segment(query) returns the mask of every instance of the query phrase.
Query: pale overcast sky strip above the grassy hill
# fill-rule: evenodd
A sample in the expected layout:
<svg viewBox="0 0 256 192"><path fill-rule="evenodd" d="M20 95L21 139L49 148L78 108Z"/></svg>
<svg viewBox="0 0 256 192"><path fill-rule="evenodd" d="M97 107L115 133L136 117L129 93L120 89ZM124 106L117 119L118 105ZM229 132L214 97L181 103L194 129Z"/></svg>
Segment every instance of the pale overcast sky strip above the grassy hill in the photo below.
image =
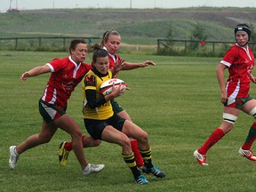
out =
<svg viewBox="0 0 256 192"><path fill-rule="evenodd" d="M0 9L256 7L255 0L0 0Z"/></svg>

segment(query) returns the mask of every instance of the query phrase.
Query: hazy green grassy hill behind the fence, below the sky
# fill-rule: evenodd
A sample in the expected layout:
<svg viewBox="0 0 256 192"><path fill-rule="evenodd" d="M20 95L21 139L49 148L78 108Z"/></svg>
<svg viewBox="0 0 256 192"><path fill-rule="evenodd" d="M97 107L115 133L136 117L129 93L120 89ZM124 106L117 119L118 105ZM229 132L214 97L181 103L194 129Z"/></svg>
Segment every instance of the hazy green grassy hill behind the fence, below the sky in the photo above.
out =
<svg viewBox="0 0 256 192"><path fill-rule="evenodd" d="M126 44L156 44L172 28L175 39L189 39L197 22L208 40L232 41L239 22L255 25L255 9L45 9L0 14L0 36L101 36L116 29Z"/></svg>

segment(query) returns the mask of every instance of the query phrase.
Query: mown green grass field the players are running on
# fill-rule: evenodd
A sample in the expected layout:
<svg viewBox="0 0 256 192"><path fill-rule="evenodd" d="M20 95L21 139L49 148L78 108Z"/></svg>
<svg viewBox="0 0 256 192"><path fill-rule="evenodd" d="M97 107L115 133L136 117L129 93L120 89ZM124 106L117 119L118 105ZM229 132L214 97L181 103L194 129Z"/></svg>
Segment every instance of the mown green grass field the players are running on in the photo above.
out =
<svg viewBox="0 0 256 192"><path fill-rule="evenodd" d="M188 58L154 55L121 55L126 61L154 60L156 67L120 73L131 88L116 99L134 123L149 134L154 164L166 178L147 176L150 184L135 185L124 164L121 148L103 142L85 148L92 163L106 164L99 174L84 177L73 152L68 166L58 161L59 143L70 140L59 130L48 144L20 156L14 171L9 169L9 147L40 131L37 101L49 74L20 84L20 74L30 68L62 58L63 52L0 52L0 184L1 191L253 191L255 163L238 155L252 117L241 114L232 132L208 153L210 164L196 163L193 152L218 127L222 116L215 68L220 58ZM91 62L89 55L86 61ZM252 95L256 95L252 85ZM85 134L81 108L82 92L76 88L68 103L68 114ZM255 146L252 149L256 148Z"/></svg>

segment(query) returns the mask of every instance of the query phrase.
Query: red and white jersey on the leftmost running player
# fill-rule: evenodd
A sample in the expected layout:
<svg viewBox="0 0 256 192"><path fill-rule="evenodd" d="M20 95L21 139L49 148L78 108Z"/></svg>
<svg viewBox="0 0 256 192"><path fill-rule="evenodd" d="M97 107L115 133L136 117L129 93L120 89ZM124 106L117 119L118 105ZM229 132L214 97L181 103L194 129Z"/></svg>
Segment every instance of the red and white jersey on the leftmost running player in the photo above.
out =
<svg viewBox="0 0 256 192"><path fill-rule="evenodd" d="M47 65L51 68L52 74L45 87L42 100L65 108L71 92L91 69L91 65L83 62L77 65L70 56L64 59L54 59Z"/></svg>

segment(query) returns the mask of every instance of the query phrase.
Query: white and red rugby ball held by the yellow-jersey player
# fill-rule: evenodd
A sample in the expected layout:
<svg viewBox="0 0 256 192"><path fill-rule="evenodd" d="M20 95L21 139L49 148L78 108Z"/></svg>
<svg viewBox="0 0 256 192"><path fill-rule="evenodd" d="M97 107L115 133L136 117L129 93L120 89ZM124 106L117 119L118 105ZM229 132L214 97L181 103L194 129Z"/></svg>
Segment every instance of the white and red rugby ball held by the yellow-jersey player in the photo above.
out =
<svg viewBox="0 0 256 192"><path fill-rule="evenodd" d="M127 85L124 83L123 80L117 79L117 78L112 78L112 79L109 79L108 81L103 82L103 84L100 85L100 93L102 95L110 94L112 92L113 84L115 84L116 87L118 87L119 84L121 84L121 89L127 87Z"/></svg>

